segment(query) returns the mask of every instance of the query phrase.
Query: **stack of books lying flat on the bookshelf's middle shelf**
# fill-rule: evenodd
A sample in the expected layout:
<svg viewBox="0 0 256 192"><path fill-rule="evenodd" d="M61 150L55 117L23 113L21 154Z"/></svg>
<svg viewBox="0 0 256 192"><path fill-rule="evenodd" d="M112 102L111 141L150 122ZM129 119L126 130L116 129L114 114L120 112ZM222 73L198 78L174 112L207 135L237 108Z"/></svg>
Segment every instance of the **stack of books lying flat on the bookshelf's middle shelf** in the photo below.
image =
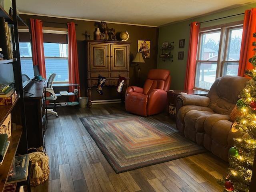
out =
<svg viewBox="0 0 256 192"><path fill-rule="evenodd" d="M14 87L0 84L0 105L12 105L17 98Z"/></svg>

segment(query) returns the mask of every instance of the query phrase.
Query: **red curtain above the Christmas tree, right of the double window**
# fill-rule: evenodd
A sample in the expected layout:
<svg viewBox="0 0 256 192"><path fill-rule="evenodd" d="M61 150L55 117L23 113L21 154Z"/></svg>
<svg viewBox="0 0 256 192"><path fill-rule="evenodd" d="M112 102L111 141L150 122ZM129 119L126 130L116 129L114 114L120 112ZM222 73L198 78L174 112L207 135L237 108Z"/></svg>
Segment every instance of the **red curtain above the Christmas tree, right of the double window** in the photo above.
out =
<svg viewBox="0 0 256 192"><path fill-rule="evenodd" d="M246 70L251 70L254 67L248 61L254 55L252 42L254 42L253 33L256 32L256 8L246 10L244 14L244 26L242 35L242 44L240 51L240 61L238 68L238 76L244 76Z"/></svg>

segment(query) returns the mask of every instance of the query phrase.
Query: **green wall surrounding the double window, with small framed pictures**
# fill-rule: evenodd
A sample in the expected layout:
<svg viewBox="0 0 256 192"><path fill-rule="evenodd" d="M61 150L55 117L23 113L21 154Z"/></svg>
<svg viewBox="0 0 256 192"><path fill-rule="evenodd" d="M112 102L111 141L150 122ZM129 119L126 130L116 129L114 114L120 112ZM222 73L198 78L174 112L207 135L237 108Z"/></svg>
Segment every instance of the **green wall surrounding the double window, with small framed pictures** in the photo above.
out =
<svg viewBox="0 0 256 192"><path fill-rule="evenodd" d="M243 13L247 9L251 9L256 7L256 3L248 4L246 6L240 6L238 8L233 8L230 10L225 10L222 12L209 14L207 16L201 16L198 18L193 18L190 20L186 20L183 22L176 22L174 24L169 24L166 26L162 26L159 28L159 38L158 38L158 46L162 45L164 41L173 42L174 41L174 50L172 50L173 54L173 62L166 60L166 62L162 61L161 58L158 57L157 68L160 69L168 69L171 72L172 83L171 89L183 89L184 88L184 80L186 74L186 64L188 57L188 46L189 46L189 36L190 36L190 24L191 22L203 22L207 20L212 20L216 18L221 18L225 16L230 16L234 14ZM201 24L201 28L215 26L235 21L240 21L244 19L244 15L234 16L230 18L220 19L212 22L206 22ZM179 40L185 39L185 48L178 48ZM162 50L158 48L158 56L162 53ZM178 60L178 52L184 51L184 60Z"/></svg>

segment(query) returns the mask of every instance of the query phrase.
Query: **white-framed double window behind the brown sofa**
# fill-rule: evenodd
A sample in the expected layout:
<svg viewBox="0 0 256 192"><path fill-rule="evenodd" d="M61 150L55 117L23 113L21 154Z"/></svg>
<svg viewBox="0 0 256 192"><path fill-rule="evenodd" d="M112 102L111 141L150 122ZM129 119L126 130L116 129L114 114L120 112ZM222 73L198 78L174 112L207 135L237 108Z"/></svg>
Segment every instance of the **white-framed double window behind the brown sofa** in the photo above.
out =
<svg viewBox="0 0 256 192"><path fill-rule="evenodd" d="M217 77L237 75L241 42L241 25L201 31L194 88L209 90Z"/></svg>

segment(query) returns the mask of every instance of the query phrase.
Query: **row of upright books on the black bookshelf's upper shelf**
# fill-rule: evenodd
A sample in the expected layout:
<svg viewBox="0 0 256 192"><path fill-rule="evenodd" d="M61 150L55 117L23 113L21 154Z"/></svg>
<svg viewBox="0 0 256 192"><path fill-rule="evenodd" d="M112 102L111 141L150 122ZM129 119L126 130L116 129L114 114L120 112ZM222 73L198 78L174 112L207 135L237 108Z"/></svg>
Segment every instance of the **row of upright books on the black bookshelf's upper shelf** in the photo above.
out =
<svg viewBox="0 0 256 192"><path fill-rule="evenodd" d="M4 59L14 58L14 25L5 22L3 17L0 18L0 47L2 48Z"/></svg>

